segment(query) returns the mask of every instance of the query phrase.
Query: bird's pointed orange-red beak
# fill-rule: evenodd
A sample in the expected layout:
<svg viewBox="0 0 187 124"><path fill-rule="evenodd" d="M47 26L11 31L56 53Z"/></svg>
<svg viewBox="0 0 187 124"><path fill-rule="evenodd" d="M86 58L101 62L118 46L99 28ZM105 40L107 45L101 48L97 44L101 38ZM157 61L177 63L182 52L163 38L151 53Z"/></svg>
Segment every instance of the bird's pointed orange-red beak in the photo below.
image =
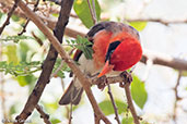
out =
<svg viewBox="0 0 187 124"><path fill-rule="evenodd" d="M110 65L109 60L107 60L104 67L103 67L103 70L102 70L102 72L98 74L97 77L101 77L101 76L109 73L113 69L114 69L114 65Z"/></svg>

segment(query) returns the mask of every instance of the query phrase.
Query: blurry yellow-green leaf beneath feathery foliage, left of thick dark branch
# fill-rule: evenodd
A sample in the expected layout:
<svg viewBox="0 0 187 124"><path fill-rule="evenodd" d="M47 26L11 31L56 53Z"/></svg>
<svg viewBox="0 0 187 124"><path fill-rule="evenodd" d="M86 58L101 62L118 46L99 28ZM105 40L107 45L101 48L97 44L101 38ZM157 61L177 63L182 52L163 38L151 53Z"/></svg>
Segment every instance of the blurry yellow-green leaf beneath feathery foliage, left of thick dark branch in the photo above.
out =
<svg viewBox="0 0 187 124"><path fill-rule="evenodd" d="M26 85L31 85L36 82L36 77L34 75L26 75L26 76L17 76L16 77L20 86L24 87Z"/></svg>

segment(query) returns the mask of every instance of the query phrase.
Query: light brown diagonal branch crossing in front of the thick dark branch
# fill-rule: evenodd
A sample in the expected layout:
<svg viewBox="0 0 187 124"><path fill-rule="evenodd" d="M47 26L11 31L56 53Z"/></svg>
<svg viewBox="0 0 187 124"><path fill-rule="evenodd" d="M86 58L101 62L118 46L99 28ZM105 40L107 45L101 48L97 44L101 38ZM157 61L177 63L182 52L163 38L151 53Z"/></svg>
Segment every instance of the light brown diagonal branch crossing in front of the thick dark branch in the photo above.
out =
<svg viewBox="0 0 187 124"><path fill-rule="evenodd" d="M44 35L49 39L49 41L52 44L52 46L56 48L56 50L60 53L61 58L65 60L65 62L71 67L72 72L77 75L78 79L82 84L89 100L93 107L95 115L103 120L106 124L110 124L109 120L103 114L101 111L93 94L91 90L91 83L85 77L85 75L80 71L80 69L77 66L74 61L66 53L61 45L58 42L58 39L54 37L54 35L50 33L50 30L47 28L47 26L39 20L39 17L33 13L24 2L20 1L19 7L24 11L25 15L30 17L36 26L44 33Z"/></svg>

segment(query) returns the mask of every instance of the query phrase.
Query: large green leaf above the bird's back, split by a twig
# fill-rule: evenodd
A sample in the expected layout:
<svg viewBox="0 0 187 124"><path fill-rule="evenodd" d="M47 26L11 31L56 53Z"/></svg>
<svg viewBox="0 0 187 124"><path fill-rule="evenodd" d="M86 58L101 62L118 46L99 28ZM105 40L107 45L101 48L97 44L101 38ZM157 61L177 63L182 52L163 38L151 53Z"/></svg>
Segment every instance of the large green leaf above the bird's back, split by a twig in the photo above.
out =
<svg viewBox="0 0 187 124"><path fill-rule="evenodd" d="M90 0L90 2L92 3L92 0ZM79 18L87 28L94 25L86 0L75 0L73 4L73 9L77 15L79 16ZM95 0L95 11L96 11L97 21L100 21L101 7L97 0Z"/></svg>

